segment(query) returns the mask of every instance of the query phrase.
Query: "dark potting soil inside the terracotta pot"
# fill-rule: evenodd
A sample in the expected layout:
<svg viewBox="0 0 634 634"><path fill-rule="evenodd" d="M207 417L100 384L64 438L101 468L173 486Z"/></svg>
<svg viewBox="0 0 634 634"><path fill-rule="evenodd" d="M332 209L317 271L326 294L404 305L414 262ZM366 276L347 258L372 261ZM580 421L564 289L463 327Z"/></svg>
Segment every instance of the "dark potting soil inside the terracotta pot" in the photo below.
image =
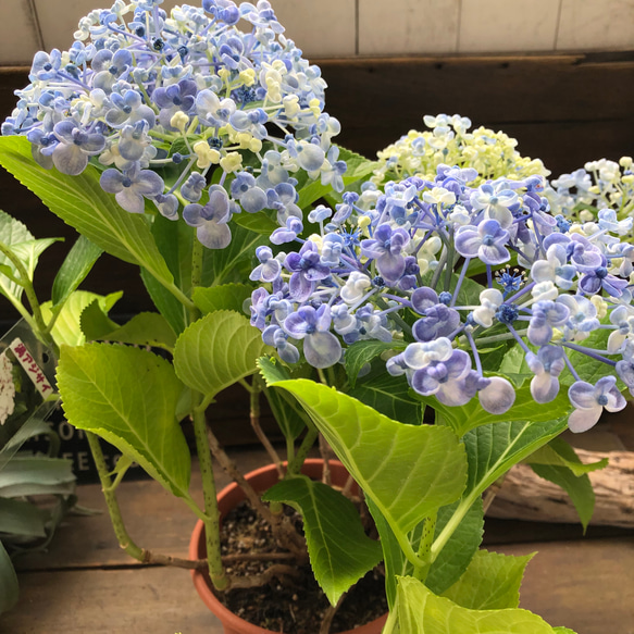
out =
<svg viewBox="0 0 634 634"><path fill-rule="evenodd" d="M301 518L286 508L294 521ZM241 502L224 519L221 531L223 555L279 552L271 529L251 509ZM229 575L262 574L271 564L291 561L239 561L227 567ZM273 579L263 586L236 588L219 593L220 600L232 612L254 625L284 634L319 634L328 599L314 580L310 564L299 567L298 576ZM353 630L387 612L385 577L377 570L369 572L345 597L331 624L331 634Z"/></svg>

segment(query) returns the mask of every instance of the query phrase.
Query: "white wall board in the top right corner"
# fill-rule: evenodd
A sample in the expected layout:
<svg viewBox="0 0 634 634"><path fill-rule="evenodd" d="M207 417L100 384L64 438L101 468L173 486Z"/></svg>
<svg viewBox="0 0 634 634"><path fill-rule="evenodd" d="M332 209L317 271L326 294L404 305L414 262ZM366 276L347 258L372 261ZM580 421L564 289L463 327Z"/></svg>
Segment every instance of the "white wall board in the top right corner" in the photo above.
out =
<svg viewBox="0 0 634 634"><path fill-rule="evenodd" d="M562 0L557 50L634 49L634 0Z"/></svg>

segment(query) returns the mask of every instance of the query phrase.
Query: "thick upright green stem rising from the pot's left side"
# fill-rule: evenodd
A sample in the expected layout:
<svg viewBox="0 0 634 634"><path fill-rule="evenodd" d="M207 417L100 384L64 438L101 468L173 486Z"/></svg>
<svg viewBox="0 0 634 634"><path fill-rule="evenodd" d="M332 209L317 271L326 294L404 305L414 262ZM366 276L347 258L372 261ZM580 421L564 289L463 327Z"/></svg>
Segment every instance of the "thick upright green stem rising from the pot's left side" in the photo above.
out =
<svg viewBox="0 0 634 634"><path fill-rule="evenodd" d="M202 495L204 499L204 538L207 544L207 562L209 565L209 576L214 587L219 591L228 586L222 558L220 552L220 511L217 509L217 499L215 490L215 481L213 477L213 467L211 463L211 451L207 439L207 420L204 418L204 408L199 406L201 396L198 393L191 393L191 402L194 408L194 433L196 436L196 450L198 451L198 461L200 464L200 474L202 477Z"/></svg>

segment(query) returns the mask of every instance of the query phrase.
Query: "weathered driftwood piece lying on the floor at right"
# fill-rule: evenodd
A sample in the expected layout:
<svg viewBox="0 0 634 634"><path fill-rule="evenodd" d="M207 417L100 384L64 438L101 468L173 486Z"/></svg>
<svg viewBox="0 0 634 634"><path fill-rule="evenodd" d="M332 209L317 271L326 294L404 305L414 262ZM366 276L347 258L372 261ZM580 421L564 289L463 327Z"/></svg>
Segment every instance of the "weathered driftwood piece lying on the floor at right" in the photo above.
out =
<svg viewBox="0 0 634 634"><path fill-rule="evenodd" d="M576 452L582 462L609 459L608 467L588 474L596 496L591 524L634 527L634 451ZM579 522L568 494L527 464L511 469L487 514L509 520Z"/></svg>

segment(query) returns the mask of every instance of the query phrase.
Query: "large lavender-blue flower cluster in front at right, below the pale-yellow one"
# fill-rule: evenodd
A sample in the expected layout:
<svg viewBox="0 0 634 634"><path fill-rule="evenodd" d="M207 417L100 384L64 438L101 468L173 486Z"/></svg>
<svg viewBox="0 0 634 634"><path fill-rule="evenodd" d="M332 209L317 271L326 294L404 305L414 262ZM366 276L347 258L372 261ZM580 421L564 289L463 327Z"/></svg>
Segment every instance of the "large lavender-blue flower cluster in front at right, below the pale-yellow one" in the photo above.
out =
<svg viewBox="0 0 634 634"><path fill-rule="evenodd" d="M258 249L251 323L283 360L302 352L319 369L356 341L393 343L390 374L447 406L477 395L494 414L512 406L515 389L483 370L483 351L517 341L536 402L554 400L569 373L569 425L585 431L604 408L625 407L625 386L634 395L634 246L608 222L571 232L549 213L542 176L470 187L475 177L440 165L433 181L390 182L384 192L366 184L335 210L315 209L309 220L321 231L308 239L290 219L271 241L301 247ZM464 303L461 290L477 274L486 285ZM595 383L580 360L601 369Z"/></svg>

